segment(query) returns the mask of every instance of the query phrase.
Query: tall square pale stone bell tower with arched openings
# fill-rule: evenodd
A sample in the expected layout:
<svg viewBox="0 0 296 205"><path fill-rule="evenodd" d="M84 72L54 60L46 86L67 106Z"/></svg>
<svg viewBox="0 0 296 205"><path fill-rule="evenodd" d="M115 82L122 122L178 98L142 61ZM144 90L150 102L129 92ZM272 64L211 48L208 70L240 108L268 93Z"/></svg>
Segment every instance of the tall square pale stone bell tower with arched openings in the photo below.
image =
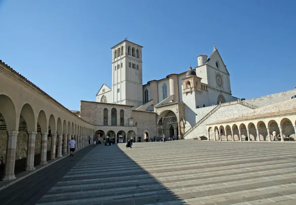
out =
<svg viewBox="0 0 296 205"><path fill-rule="evenodd" d="M112 101L116 104L143 104L142 48L131 41L121 41L112 49Z"/></svg>

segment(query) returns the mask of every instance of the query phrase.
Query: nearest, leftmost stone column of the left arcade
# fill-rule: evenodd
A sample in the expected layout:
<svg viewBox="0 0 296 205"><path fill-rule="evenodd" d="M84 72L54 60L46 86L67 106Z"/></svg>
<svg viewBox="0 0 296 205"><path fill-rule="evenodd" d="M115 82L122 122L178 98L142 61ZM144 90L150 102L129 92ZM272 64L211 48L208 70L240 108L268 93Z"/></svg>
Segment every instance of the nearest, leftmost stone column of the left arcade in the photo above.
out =
<svg viewBox="0 0 296 205"><path fill-rule="evenodd" d="M7 145L5 156L4 175L1 180L13 180L16 179L14 175L15 165L15 151L18 131L7 131Z"/></svg>

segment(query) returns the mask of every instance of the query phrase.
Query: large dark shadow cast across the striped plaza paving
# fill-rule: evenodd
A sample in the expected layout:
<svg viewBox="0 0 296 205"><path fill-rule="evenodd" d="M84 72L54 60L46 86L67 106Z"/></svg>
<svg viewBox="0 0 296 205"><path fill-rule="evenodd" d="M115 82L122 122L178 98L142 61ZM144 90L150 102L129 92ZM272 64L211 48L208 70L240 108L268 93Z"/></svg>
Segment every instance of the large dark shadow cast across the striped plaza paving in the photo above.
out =
<svg viewBox="0 0 296 205"><path fill-rule="evenodd" d="M125 153L130 150L122 151L118 145L97 145L37 204L185 205L185 201Z"/></svg>

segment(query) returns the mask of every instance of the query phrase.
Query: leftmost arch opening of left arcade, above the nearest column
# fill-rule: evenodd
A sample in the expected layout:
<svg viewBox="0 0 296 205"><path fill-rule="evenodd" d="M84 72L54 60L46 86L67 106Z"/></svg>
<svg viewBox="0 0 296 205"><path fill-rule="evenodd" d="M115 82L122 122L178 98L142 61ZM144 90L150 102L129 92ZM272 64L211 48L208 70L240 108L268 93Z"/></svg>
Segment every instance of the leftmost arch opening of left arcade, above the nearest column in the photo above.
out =
<svg viewBox="0 0 296 205"><path fill-rule="evenodd" d="M0 114L4 117L8 131L17 130L16 110L13 101L7 95L0 94Z"/></svg>

